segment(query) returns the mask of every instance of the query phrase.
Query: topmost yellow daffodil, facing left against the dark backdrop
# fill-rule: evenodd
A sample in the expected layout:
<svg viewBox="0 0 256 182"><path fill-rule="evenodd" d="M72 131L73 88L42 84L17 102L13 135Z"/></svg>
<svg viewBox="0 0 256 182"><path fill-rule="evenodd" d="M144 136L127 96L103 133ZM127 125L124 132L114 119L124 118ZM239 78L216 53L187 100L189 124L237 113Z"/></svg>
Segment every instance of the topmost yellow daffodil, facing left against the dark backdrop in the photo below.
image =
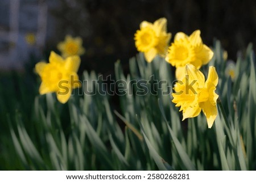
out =
<svg viewBox="0 0 256 182"><path fill-rule="evenodd" d="M135 46L143 52L147 62L151 62L156 55L166 56L171 33L167 33L167 20L160 18L154 22L143 21L135 33Z"/></svg>

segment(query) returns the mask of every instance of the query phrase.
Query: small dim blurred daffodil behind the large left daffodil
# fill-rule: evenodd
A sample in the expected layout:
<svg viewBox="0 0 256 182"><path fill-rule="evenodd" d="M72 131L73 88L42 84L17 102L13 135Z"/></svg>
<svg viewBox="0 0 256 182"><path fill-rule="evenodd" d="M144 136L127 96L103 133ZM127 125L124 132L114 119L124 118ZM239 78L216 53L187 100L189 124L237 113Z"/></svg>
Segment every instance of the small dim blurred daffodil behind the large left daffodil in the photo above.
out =
<svg viewBox="0 0 256 182"><path fill-rule="evenodd" d="M57 48L61 52L61 56L67 58L68 56L81 56L85 53L85 49L82 47L81 37L73 38L70 35L65 37L63 42L57 45Z"/></svg>

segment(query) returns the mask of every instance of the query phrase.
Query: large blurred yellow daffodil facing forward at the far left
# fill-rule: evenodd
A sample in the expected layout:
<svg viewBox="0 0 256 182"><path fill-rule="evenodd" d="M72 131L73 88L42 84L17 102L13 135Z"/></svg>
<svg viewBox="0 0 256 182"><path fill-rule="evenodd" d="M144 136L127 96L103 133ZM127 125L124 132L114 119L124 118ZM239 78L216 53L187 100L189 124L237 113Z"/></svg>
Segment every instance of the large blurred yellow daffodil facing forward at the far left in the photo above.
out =
<svg viewBox="0 0 256 182"><path fill-rule="evenodd" d="M49 63L39 62L35 65L36 73L42 79L39 93L43 95L55 92L60 103L66 103L71 96L72 89L81 86L77 75L79 66L79 56L71 56L64 60L52 51Z"/></svg>

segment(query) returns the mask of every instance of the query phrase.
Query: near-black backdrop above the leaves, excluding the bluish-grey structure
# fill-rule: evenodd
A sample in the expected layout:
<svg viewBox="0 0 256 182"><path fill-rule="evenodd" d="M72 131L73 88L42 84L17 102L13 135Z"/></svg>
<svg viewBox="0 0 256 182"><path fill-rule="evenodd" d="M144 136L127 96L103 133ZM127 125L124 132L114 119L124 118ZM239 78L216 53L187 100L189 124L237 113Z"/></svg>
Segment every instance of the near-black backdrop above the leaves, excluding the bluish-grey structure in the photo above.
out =
<svg viewBox="0 0 256 182"><path fill-rule="evenodd" d="M256 43L256 1L252 0L63 0L50 12L58 24L46 48L56 49L67 33L81 36L86 54L80 69L102 74L112 74L118 59L128 69L129 58L137 54L134 33L143 20L166 17L171 42L177 32L190 35L200 29L205 44L220 40L228 59L234 61L238 50Z"/></svg>

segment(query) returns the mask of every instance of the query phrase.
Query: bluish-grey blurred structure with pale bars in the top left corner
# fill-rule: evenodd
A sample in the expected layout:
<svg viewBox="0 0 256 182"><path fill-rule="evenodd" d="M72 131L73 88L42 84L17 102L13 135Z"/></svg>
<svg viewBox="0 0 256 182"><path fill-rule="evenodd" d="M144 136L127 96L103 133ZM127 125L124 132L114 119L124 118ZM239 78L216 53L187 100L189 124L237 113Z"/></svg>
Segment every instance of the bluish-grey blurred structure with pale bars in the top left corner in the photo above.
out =
<svg viewBox="0 0 256 182"><path fill-rule="evenodd" d="M46 41L48 3L45 0L0 1L0 70L22 69L31 51L40 53ZM26 35L36 41L30 45Z"/></svg>

